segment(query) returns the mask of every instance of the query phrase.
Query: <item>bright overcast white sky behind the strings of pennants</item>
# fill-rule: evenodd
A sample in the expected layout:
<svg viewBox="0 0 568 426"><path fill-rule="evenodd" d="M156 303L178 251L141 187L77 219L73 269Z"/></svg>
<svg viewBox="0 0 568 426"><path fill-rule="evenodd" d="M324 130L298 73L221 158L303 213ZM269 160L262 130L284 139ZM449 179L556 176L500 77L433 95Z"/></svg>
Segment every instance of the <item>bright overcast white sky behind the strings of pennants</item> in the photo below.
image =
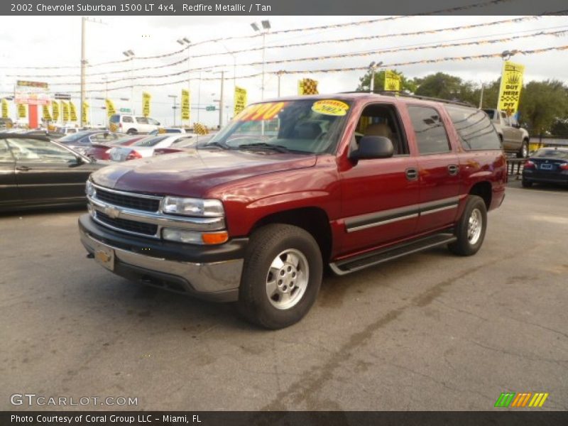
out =
<svg viewBox="0 0 568 426"><path fill-rule="evenodd" d="M142 59L141 57L173 53L182 48L176 43L179 38L187 38L192 44L189 51L189 68L210 68L209 72L190 72L190 92L192 117L190 121L200 121L208 126L219 124L218 111L205 111L207 106L218 106L221 93L221 70L224 70L224 117L223 124L233 115L234 84L244 87L248 100L261 100L261 75L251 78L243 76L261 74L263 66L263 37L255 35L252 22L260 23L266 16L105 16L92 17L86 26L87 102L91 106L92 124L105 123L105 111L101 108L106 94L114 100L116 108L133 107L136 114L141 113L142 92L152 95L151 116L166 126L173 125L173 97L187 88L187 50L166 58ZM501 53L503 50L532 50L568 45L568 32L557 35L539 35L516 38L503 43L482 43L479 45L455 46L449 48L427 48L422 50L402 50L391 53L380 50L407 48L409 46L432 46L440 43L469 43L519 35L532 35L545 31L568 31L568 16L542 16L518 23L501 23L493 26L442 31L422 35L395 35L415 31L453 28L479 23L490 23L515 18L515 16L404 16L391 21L379 21L356 26L290 33L272 33L292 28L325 26L334 23L366 21L373 16L268 16L271 30L265 38L265 93L264 99L278 94L278 70L305 70L305 73L282 75L280 94L297 94L297 80L312 78L317 80L320 93L337 93L356 89L359 77L364 70L334 73L312 73L310 70L329 68L366 67L369 62L382 61L384 65L430 60L436 58L461 57ZM334 40L357 38L370 35L381 37L371 40L337 42ZM235 38L236 39L231 39ZM240 37L240 38L239 38ZM243 38L245 37L245 38ZM224 38L222 42L200 43L214 38ZM309 43L326 40L330 43L293 46L295 43ZM285 47L275 47L285 46ZM258 50L249 51L257 48ZM98 65L101 62L123 61L125 50L132 50L133 60L112 65ZM234 55L213 55L233 50L245 50ZM271 64L273 60L321 57L325 55L366 53L350 58L321 59L302 62ZM200 55L207 55L201 56ZM80 16L0 16L0 96L13 94L16 80L33 80L50 84L50 92L71 93L79 106L81 58L81 18ZM515 55L513 62L525 65L525 82L532 80L560 80L568 84L568 50L550 51L535 55ZM172 62L178 65L159 67ZM258 62L259 65L246 65ZM236 66L235 66L236 65ZM482 82L496 80L501 74L503 60L489 58L482 60L454 60L429 64L400 65L395 68L407 77L422 77L435 72L457 75L464 80L481 85ZM68 67L60 70L26 69L23 67ZM132 72L131 69L141 69ZM236 72L235 72L236 71ZM180 73L173 77L149 77ZM233 78L236 74L236 82ZM55 75L64 75L55 77ZM105 83L104 78L107 78ZM133 80L131 78L133 77ZM200 78L201 77L201 78ZM119 82L112 82L119 80ZM206 80L207 79L207 80ZM147 84L155 82L176 82L159 87ZM133 97L129 86L134 82ZM126 89L113 90L114 87ZM120 100L120 98L129 100ZM133 102L132 102L133 100ZM217 102L216 102L217 101ZM11 116L15 118L16 109L11 103ZM180 110L175 110L176 124L180 124ZM199 116L199 117L198 117Z"/></svg>

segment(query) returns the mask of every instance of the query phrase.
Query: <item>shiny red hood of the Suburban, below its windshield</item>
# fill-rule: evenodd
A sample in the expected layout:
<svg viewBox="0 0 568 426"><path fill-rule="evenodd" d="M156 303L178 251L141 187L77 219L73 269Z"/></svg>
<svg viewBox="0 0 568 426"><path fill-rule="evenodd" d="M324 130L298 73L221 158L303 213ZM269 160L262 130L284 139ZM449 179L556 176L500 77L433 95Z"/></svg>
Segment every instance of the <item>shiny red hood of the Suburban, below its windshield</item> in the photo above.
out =
<svg viewBox="0 0 568 426"><path fill-rule="evenodd" d="M273 151L193 150L109 165L92 180L115 190L202 197L226 182L312 167L316 155Z"/></svg>

